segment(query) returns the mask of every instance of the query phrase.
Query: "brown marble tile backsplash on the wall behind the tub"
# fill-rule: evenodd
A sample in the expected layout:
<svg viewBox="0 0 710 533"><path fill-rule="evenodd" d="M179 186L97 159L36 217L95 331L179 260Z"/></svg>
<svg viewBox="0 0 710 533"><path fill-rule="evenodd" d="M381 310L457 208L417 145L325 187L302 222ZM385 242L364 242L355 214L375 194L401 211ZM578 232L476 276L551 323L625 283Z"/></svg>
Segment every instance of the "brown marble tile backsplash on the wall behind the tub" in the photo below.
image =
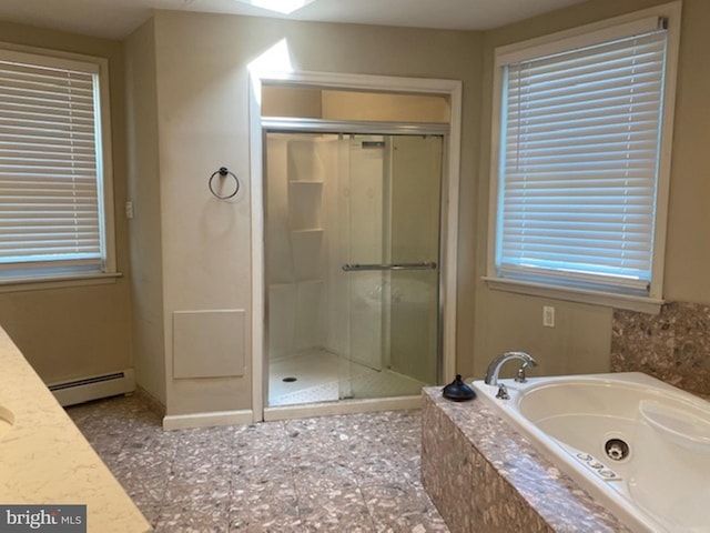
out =
<svg viewBox="0 0 710 533"><path fill-rule="evenodd" d="M710 305L669 302L657 315L615 310L611 371L640 371L710 396Z"/></svg>

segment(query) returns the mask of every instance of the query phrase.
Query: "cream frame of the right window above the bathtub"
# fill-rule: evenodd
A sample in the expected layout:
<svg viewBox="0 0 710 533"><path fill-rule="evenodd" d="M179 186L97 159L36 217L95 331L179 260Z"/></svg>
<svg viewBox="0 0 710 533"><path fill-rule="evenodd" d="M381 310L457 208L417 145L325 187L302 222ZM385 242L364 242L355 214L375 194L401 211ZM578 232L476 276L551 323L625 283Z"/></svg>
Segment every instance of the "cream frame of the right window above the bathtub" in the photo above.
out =
<svg viewBox="0 0 710 533"><path fill-rule="evenodd" d="M486 275L483 276L489 289L649 313L658 313L660 311L660 306L663 303L663 266L670 185L673 112L676 101L676 78L680 42L680 14L681 2L676 1L495 49L487 264ZM499 276L496 268L496 245L499 223L499 188L501 184L501 119L504 115L503 98L505 94L503 66L516 60L519 61L535 57L548 56L559 51L574 50L592 43L609 41L615 39L619 29L623 29L625 31L635 31L635 28L639 28L640 32L642 31L642 28L648 26L649 18L668 19L666 80L662 99L658 185L656 191L656 231L653 235L651 262L652 274L651 282L649 284L649 294L630 295L591 288L562 286L552 283L548 284L545 282Z"/></svg>

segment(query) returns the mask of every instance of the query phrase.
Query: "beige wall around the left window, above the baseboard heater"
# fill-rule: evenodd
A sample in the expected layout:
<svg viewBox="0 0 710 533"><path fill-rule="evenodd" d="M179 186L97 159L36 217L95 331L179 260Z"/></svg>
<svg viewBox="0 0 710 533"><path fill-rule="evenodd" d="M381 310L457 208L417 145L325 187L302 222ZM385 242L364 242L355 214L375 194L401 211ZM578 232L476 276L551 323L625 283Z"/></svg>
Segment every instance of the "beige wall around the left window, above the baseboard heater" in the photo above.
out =
<svg viewBox="0 0 710 533"><path fill-rule="evenodd" d="M0 22L0 40L108 58L116 258L128 275L123 53L120 42ZM128 278L105 285L1 292L0 324L45 382L132 366Z"/></svg>

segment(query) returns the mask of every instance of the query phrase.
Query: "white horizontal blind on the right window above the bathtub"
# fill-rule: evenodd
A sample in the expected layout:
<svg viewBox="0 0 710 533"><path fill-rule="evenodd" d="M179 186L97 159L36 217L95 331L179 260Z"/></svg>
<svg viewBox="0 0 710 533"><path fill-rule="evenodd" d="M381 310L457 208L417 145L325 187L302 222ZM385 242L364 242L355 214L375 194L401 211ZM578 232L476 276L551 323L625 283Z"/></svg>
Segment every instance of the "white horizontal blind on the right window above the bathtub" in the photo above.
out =
<svg viewBox="0 0 710 533"><path fill-rule="evenodd" d="M666 32L505 67L498 275L645 292Z"/></svg>

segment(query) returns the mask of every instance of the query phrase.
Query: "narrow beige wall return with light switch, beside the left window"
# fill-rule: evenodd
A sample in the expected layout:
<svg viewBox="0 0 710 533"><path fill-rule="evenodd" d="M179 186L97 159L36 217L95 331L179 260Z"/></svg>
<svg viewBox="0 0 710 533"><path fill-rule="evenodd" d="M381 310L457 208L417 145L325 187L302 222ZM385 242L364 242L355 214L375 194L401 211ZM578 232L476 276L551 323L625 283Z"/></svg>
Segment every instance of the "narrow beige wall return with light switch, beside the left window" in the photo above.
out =
<svg viewBox="0 0 710 533"><path fill-rule="evenodd" d="M163 271L155 34L151 19L125 41L131 324L138 383L165 404Z"/></svg>

